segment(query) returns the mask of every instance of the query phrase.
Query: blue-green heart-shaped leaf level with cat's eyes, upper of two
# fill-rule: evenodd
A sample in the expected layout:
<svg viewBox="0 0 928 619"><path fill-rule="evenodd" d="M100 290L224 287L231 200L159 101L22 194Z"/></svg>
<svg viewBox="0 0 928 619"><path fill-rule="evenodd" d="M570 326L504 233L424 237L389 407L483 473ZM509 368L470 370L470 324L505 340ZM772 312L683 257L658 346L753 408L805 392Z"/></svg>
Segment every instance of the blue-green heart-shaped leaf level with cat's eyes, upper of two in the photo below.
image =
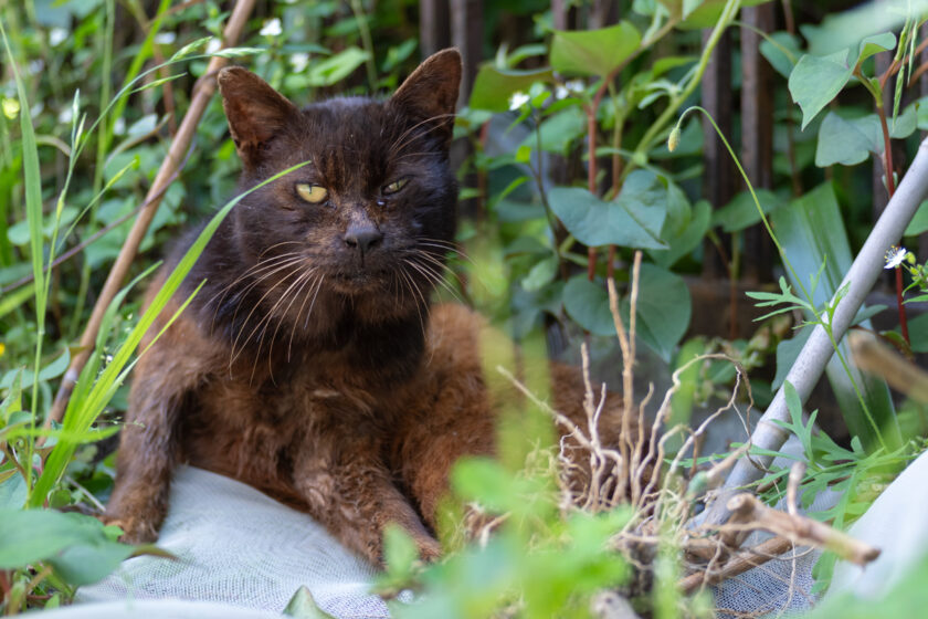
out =
<svg viewBox="0 0 928 619"><path fill-rule="evenodd" d="M651 171L629 175L622 192L611 202L577 187L557 187L548 200L567 230L587 245L667 246L660 238L667 214L667 188Z"/></svg>

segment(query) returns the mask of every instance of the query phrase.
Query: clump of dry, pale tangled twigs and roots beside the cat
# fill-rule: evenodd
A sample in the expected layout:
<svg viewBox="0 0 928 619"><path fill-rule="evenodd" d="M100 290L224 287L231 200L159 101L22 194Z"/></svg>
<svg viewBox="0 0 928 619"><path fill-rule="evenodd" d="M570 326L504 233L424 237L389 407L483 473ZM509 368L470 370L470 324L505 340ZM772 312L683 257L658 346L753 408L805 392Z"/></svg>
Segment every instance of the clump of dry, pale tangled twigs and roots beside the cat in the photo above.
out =
<svg viewBox="0 0 928 619"><path fill-rule="evenodd" d="M632 265L631 311L629 326L619 312L619 297L614 281L609 280L610 311L622 353L622 395L624 415L622 416L622 439L618 448L604 445L599 436L599 420L605 405L607 386L602 385L599 394L590 380L590 358L586 344L582 347L583 379L586 398L583 408L587 413L586 428L571 421L567 416L551 408L513 377L504 368L504 374L527 398L549 413L566 430L560 441L558 460L558 482L560 510L569 513L583 510L591 513L613 510L628 505L633 512L629 523L615 533L613 548L621 553L636 569L632 587L623 591L635 595L648 588L654 571L654 560L660 545L671 543L678 549L678 557L685 569L679 580L684 594L694 594L706 587L717 585L736 577L749 569L761 568L771 560L791 562L795 570L797 559L814 548L823 548L837 554L842 559L865 565L879 555L879 550L867 544L851 538L829 524L814 521L799 513L797 507L800 495L799 485L805 470L803 463L793 465L788 478L787 511L764 505L750 492L736 494L727 502L731 512L729 520L718 526L699 523L699 507L716 500L718 489L727 472L741 458L750 459L750 440L734 450L720 461L708 468L697 466L698 447L709 426L726 412L739 416L746 436L750 437L749 413L753 405L750 397L750 382L737 361L726 355L700 355L674 371L673 385L653 417L650 429L646 407L654 396L654 387L648 387L645 396L635 401L633 376L635 359L635 307L637 301L641 252L636 252ZM677 424L667 428L671 416L671 400L681 388L681 375L694 364L709 359L724 359L734 364L736 382L729 399L696 429ZM747 394L747 415L739 409L738 396L744 389ZM682 447L669 453L668 443L675 437L686 434ZM572 442L572 444L571 444ZM583 450L589 461L589 472L583 476L589 483L578 487L578 459L576 450ZM573 453L570 453L574 450ZM692 459L692 460L690 460ZM685 460L690 460L687 466ZM758 464L759 465L759 464ZM688 468L688 471L686 469ZM489 526L498 524L499 518ZM748 534L763 531L772 537L751 546L745 546ZM483 532L486 538L487 532ZM774 576L774 578L781 578ZM784 583L789 587L790 599L794 583ZM625 605L613 599L614 594L597 598L602 608L601 617L631 617ZM611 597L612 596L612 597ZM612 610L610 610L612 609ZM618 609L618 610L616 610ZM595 609L594 609L595 610ZM723 609L719 609L723 610ZM758 609L769 612L771 608Z"/></svg>

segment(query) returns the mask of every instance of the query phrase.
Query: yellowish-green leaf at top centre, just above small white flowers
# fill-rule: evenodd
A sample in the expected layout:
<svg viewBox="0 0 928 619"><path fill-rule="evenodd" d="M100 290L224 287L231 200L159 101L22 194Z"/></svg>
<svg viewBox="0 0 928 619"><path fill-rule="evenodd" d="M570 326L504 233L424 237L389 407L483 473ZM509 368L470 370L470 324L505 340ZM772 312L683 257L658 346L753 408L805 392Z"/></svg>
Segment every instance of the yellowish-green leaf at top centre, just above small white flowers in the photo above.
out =
<svg viewBox="0 0 928 619"><path fill-rule="evenodd" d="M626 21L599 30L556 31L551 66L563 74L605 77L640 44L641 34Z"/></svg>

